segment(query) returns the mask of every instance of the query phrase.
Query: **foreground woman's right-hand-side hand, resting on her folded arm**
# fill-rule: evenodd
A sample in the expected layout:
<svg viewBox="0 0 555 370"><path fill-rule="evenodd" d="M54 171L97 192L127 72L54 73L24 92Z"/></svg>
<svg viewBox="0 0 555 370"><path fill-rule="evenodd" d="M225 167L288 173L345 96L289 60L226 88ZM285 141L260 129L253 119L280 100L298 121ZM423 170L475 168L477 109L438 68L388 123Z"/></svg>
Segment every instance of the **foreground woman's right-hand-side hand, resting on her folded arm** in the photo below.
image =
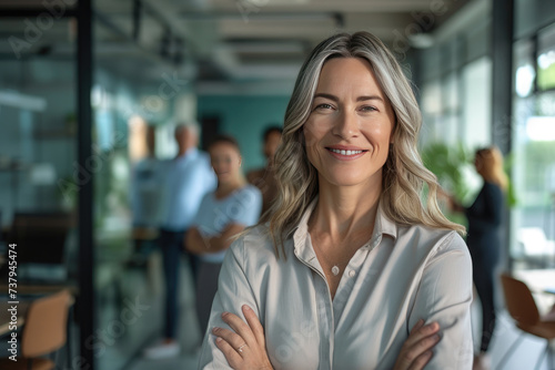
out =
<svg viewBox="0 0 555 370"><path fill-rule="evenodd" d="M394 370L421 370L433 356L432 348L440 341L437 331L440 325L431 322L424 326L424 320L418 322L411 330L411 335L401 348Z"/></svg>

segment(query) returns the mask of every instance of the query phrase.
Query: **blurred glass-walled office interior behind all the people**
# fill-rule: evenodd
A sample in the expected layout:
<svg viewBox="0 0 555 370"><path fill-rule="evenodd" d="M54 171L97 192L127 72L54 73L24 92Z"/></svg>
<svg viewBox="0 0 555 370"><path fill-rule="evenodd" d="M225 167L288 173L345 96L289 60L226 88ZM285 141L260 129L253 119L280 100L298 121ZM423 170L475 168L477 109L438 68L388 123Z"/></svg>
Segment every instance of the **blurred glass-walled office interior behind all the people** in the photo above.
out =
<svg viewBox="0 0 555 370"><path fill-rule="evenodd" d="M501 150L509 185L496 276L525 281L548 311L554 1L0 0L0 295L10 244L22 301L71 294L60 369L195 368L201 332L184 256L179 351L143 356L164 333L157 178L178 155L175 125L200 124L200 151L234 136L245 175L266 167L261 138L283 122L303 59L325 37L357 30L390 45L414 82L423 157L457 202L468 206L482 186L474 151ZM493 367L521 335L496 291ZM480 312L476 300L473 320ZM9 330L0 335L4 346ZM532 368L544 347L525 336L503 369Z"/></svg>

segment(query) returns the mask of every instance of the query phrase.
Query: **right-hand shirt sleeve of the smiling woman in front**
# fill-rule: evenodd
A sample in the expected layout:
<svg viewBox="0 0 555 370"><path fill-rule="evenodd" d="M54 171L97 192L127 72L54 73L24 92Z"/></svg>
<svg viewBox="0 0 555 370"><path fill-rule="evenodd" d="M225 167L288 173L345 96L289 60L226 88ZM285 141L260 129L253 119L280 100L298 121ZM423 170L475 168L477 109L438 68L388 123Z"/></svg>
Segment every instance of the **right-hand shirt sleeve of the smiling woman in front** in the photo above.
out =
<svg viewBox="0 0 555 370"><path fill-rule="evenodd" d="M426 369L472 369L472 260L463 239L452 232L424 268L408 319L440 323L440 342Z"/></svg>

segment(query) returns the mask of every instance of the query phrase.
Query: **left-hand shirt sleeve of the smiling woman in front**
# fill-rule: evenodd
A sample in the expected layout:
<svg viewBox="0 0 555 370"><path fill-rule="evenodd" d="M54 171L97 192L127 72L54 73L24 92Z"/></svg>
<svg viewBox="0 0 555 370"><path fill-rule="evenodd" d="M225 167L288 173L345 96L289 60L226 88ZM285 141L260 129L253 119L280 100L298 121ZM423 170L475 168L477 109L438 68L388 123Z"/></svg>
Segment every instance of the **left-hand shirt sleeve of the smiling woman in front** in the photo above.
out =
<svg viewBox="0 0 555 370"><path fill-rule="evenodd" d="M215 346L215 337L211 333L214 327L232 330L223 322L221 315L232 312L245 322L241 307L249 305L260 318L260 309L254 298L254 292L246 279L244 271L244 238L240 238L231 245L225 254L225 259L220 270L218 280L218 292L215 294L210 312L210 320L202 343L199 360L199 370L231 369L222 351Z"/></svg>

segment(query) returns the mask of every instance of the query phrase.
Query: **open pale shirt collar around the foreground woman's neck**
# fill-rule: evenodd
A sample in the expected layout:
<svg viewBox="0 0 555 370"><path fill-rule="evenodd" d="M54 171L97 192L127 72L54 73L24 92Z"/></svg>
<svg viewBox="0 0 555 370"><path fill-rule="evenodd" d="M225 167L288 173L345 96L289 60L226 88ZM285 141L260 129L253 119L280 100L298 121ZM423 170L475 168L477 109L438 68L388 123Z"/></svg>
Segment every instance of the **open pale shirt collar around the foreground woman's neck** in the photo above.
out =
<svg viewBox="0 0 555 370"><path fill-rule="evenodd" d="M317 196L306 207L306 210L304 212L303 216L301 217L301 220L296 226L295 232L293 233L295 254L301 253L305 255L305 257L309 257L309 259L313 257L312 253L306 255L305 250L306 239L309 236L309 218L314 208L316 207L316 204L317 204ZM381 239L384 234L391 236L393 239L396 239L397 225L385 215L383 210L382 199L380 199L380 203L377 204L376 219L374 222L374 232L369 243L364 244L362 248L369 248L371 245L375 246L375 243L372 241Z"/></svg>

